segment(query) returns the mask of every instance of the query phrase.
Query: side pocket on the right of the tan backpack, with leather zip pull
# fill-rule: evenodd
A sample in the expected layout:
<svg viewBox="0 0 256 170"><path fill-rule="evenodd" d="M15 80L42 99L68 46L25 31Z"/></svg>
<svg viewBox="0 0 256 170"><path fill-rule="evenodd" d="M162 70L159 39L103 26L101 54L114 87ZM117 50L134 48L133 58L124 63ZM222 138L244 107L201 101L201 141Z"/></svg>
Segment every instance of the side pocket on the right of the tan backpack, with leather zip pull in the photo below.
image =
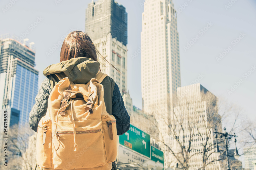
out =
<svg viewBox="0 0 256 170"><path fill-rule="evenodd" d="M104 145L107 162L114 162L117 156L116 120L102 122Z"/></svg>

